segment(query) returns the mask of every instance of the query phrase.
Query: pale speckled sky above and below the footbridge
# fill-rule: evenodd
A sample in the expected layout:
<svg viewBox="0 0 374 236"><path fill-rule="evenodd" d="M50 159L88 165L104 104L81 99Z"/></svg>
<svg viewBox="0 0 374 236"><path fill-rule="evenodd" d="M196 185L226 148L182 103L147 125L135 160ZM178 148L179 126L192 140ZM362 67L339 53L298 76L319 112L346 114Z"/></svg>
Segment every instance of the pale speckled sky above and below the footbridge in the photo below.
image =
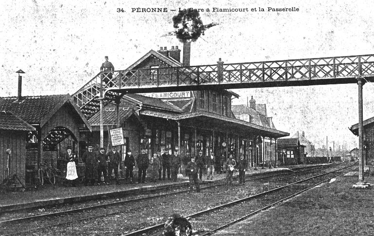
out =
<svg viewBox="0 0 374 236"><path fill-rule="evenodd" d="M167 12L131 12L132 8ZM126 69L150 49L182 43L173 31L179 8L204 9L205 24L219 25L191 44L191 65L307 59L374 54L374 2L348 0L7 0L0 3L0 96L73 94L98 72L104 56L115 70ZM212 12L248 8L249 12ZM264 8L264 12L258 9ZM268 12L296 7L298 12ZM117 8L125 12L117 12ZM250 9L257 9L251 12ZM210 12L206 12L209 9ZM177 10L177 11L171 11ZM348 127L358 122L357 85L323 85L234 90L245 104L253 96L266 103L277 129L305 132L316 144L358 145ZM374 84L363 88L364 119L374 116Z"/></svg>

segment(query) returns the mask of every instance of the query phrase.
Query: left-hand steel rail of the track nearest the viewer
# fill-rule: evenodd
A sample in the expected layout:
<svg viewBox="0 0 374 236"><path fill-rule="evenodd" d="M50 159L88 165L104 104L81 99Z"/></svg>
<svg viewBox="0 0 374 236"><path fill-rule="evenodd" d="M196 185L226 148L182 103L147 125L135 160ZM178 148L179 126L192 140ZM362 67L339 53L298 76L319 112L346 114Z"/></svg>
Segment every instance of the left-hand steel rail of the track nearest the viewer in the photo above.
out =
<svg viewBox="0 0 374 236"><path fill-rule="evenodd" d="M281 186L281 187L277 187L277 188L274 188L274 189L271 189L271 190L268 190L268 191L265 191L265 192L262 192L262 193L259 193L259 194L256 194L256 195L253 195L253 196L250 196L250 197L244 197L244 198L241 198L241 199L238 199L238 200L235 200L235 201L232 201L232 202L229 202L229 203L225 203L225 204L222 204L222 205L219 205L219 206L216 206L216 207L212 207L212 208L209 208L207 210L203 210L203 211L200 211L200 212L197 212L197 213L194 213L192 215L189 215L189 216L186 216L186 218L191 218L191 217L195 217L195 216L199 216L199 215L203 215L203 214L206 214L206 213L209 213L209 212L212 212L212 211L215 211L217 209L220 209L220 208L225 208L225 207L229 207L231 205L235 205L237 203L240 203L240 202L243 202L243 201L246 201L246 200L250 200L250 199L253 199L253 198L256 198L256 197L261 197L263 195L266 195L266 194L269 194L269 193L272 193L272 192L276 192L278 190L281 190L285 187L288 187L290 185L293 185L293 184L296 184L296 183L301 183L301 182L305 182L309 179L313 179L313 178L316 178L316 177L320 177L320 176L324 176L324 175L327 175L327 174L330 174L330 173L334 173L334 172L337 172L339 170L342 170L342 169L346 169L346 168L349 168L353 165L350 165L350 166L346 166L346 167L343 167L343 168L340 168L340 169L337 169L337 170L334 170L334 171L331 171L331 172L327 172L327 173L322 173L322 174L319 174L317 176L313 176L313 177L309 177L309 178L306 178L306 179L302 179L302 180L299 180L299 181L296 181L296 182L293 182L293 183L290 183L290 184L287 184L287 185L284 185L284 186ZM152 231L152 230L159 230L161 229L165 224L162 223L162 224L157 224L157 225L153 225L153 226L150 226L150 227L147 227L147 228L144 228L144 229L140 229L140 230L137 230L137 231L133 231L133 232L130 232L128 234L125 234L123 236L136 236L136 235L142 235L146 232L149 232L149 231Z"/></svg>

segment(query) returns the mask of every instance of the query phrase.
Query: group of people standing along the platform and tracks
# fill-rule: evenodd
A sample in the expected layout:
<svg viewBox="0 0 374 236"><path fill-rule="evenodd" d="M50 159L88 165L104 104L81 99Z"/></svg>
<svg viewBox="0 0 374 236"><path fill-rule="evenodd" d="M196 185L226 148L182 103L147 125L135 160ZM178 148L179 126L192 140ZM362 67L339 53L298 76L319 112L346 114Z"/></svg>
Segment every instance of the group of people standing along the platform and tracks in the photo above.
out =
<svg viewBox="0 0 374 236"><path fill-rule="evenodd" d="M77 157L72 153L71 147L67 148L67 155L65 157L67 161L67 175L66 179L72 182L75 186L76 174L76 163ZM86 151L82 156L82 161L85 163L85 185L94 185L97 181L98 184L109 184L109 177L112 176L114 171L115 183L119 184L118 169L121 166L121 157L117 152L116 147L113 146L112 150L105 153L104 148L100 148L100 152L93 152L93 146L88 146L88 151ZM135 162L136 161L136 162ZM182 160L178 154L178 149L165 150L161 154L160 150L157 150L150 158L146 154L146 149L142 148L141 153L136 157L136 159L131 155L131 150L128 150L124 161L122 170L125 174L125 181L133 183L133 170L135 166L138 167L138 178L137 183L147 183L146 177L148 177L151 182L156 182L158 180L168 180L177 181L177 176L179 168L181 168ZM193 185L195 185L196 191L199 192L199 180L203 179L203 171L207 171L207 180L212 180L214 177L215 166L217 164L216 157L212 153L208 157L204 157L203 151L200 150L199 154L194 157L190 157L190 161L186 166L186 176L190 182L191 191L193 190ZM218 163L219 164L219 163ZM229 155L224 163L225 171L227 174L226 183L232 183L232 177L235 168L239 169L239 183L244 184L245 169L247 167L247 161L241 155L238 163L236 162L233 155ZM123 168L122 168L123 169ZM101 176L104 177L104 181L101 180Z"/></svg>

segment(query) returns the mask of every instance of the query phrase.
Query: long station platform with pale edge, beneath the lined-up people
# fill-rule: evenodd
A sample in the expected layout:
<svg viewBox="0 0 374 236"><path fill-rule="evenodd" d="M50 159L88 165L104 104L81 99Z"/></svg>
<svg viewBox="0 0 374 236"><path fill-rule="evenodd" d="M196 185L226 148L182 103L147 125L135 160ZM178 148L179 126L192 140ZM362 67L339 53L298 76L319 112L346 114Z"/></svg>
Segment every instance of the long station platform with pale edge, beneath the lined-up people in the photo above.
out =
<svg viewBox="0 0 374 236"><path fill-rule="evenodd" d="M316 164L320 165L320 164ZM264 172L284 172L291 171L293 168L297 169L305 165L286 166L273 169L258 170L250 168L246 172L246 176L253 176L262 174ZM307 165L312 166L312 165ZM233 177L237 177L238 172L234 172ZM202 182L215 182L220 181L226 177L226 174L215 174L213 180L206 180L206 175L203 176ZM65 187L65 186L51 186L44 185L41 188L25 191L25 192L4 192L0 194L0 213L6 211L13 211L26 208L37 208L44 206L51 206L56 204L74 203L79 201L102 199L106 197L123 197L130 194L141 194L151 190L162 190L174 186L188 187L188 177L178 175L177 182L169 180L157 180L156 183L142 183L142 184L129 184L120 180L120 185L96 185L96 186L78 186L78 187Z"/></svg>

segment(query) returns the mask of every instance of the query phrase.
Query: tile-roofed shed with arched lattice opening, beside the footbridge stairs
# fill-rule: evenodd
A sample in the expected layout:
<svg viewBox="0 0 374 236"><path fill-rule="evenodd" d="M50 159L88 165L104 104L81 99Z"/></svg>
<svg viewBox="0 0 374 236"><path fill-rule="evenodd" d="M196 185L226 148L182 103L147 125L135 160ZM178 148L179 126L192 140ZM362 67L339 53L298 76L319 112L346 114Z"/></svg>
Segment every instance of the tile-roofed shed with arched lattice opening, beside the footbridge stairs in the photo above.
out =
<svg viewBox="0 0 374 236"><path fill-rule="evenodd" d="M79 131L91 131L69 94L0 98L0 110L12 112L35 128L26 140L26 168L30 171L37 170L39 162L57 167L66 146L78 152Z"/></svg>

